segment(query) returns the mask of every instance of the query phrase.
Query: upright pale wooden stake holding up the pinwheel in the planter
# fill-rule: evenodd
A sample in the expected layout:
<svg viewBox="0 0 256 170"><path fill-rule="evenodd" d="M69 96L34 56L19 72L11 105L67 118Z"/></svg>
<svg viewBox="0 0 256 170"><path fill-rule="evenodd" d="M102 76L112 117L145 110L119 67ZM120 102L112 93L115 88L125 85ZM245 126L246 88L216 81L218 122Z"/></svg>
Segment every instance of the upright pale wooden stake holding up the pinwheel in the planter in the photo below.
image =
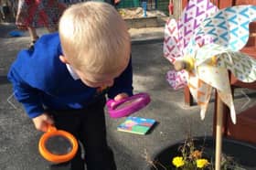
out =
<svg viewBox="0 0 256 170"><path fill-rule="evenodd" d="M219 94L217 94L215 170L220 170L221 165L223 106L223 102L220 100Z"/></svg>

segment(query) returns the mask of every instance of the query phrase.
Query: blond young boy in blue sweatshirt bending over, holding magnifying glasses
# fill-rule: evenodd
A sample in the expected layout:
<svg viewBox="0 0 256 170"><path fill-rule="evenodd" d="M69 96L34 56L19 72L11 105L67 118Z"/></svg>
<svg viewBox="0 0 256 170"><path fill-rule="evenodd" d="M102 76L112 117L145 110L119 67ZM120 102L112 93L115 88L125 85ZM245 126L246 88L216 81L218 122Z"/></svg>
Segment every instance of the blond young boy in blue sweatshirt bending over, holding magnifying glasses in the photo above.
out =
<svg viewBox="0 0 256 170"><path fill-rule="evenodd" d="M115 8L86 2L71 5L60 18L59 34L22 50L9 71L16 99L37 130L54 124L72 133L84 146L88 170L116 169L106 141L104 94L116 101L132 95L130 52L127 27ZM84 169L80 151L70 165Z"/></svg>

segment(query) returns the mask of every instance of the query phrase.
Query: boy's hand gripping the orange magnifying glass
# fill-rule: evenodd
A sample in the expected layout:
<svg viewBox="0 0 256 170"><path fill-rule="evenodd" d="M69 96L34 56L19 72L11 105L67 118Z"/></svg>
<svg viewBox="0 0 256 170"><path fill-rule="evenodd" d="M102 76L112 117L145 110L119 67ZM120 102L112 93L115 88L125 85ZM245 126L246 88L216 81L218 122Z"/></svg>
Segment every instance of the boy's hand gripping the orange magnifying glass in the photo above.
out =
<svg viewBox="0 0 256 170"><path fill-rule="evenodd" d="M42 132L47 132L48 125L51 125L54 123L53 119L46 112L33 118L32 121L34 122L36 129Z"/></svg>

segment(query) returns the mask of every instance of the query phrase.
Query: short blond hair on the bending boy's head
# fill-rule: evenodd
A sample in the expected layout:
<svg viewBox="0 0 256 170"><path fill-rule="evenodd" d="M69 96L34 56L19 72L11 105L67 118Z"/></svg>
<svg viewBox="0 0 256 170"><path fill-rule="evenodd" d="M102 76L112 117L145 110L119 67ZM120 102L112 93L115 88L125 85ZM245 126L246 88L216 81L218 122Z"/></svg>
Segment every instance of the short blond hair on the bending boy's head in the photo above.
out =
<svg viewBox="0 0 256 170"><path fill-rule="evenodd" d="M64 56L80 71L112 74L126 68L131 42L122 16L112 5L71 5L59 21Z"/></svg>

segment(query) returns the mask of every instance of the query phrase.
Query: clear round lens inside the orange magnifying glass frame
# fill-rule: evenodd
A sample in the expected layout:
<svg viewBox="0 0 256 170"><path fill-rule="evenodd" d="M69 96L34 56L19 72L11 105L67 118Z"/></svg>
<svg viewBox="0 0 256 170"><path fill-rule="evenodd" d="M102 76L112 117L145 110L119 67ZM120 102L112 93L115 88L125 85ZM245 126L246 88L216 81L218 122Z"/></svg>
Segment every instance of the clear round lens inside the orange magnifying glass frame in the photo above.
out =
<svg viewBox="0 0 256 170"><path fill-rule="evenodd" d="M69 154L73 149L72 143L64 136L50 136L45 143L45 147L51 154L63 155Z"/></svg>

